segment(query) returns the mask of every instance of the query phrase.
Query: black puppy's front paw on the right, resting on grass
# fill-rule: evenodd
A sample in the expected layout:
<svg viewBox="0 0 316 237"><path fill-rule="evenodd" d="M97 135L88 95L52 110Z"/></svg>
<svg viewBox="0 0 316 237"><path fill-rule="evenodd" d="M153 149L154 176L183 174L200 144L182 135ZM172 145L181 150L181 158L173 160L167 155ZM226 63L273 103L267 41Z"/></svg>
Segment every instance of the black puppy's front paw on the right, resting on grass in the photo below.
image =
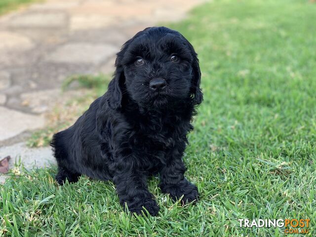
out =
<svg viewBox="0 0 316 237"><path fill-rule="evenodd" d="M182 196L182 203L197 201L198 192L197 186L184 179L176 185L160 185L163 193L169 194L173 200L180 199Z"/></svg>

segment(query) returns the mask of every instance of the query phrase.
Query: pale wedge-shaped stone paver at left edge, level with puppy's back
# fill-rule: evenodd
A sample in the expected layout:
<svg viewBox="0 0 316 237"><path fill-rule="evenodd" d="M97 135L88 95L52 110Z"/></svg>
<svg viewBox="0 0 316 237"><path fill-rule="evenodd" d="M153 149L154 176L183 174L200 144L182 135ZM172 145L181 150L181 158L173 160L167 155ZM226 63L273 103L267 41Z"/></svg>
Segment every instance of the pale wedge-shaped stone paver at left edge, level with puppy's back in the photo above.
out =
<svg viewBox="0 0 316 237"><path fill-rule="evenodd" d="M0 106L0 141L14 137L26 130L34 130L44 126L42 116L24 114Z"/></svg>

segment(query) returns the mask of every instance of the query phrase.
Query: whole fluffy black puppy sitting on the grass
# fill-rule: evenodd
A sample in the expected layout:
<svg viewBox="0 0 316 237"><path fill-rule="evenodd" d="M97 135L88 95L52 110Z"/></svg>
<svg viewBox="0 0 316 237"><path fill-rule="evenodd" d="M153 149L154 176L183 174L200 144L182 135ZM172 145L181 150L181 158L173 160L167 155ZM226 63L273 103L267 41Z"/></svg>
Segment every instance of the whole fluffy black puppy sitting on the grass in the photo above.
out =
<svg viewBox="0 0 316 237"><path fill-rule="evenodd" d="M157 215L147 177L160 174L160 188L173 199L197 199L182 161L187 133L202 101L193 46L180 33L152 27L137 33L117 54L108 91L70 128L54 135L56 180L81 174L112 180L122 205Z"/></svg>

